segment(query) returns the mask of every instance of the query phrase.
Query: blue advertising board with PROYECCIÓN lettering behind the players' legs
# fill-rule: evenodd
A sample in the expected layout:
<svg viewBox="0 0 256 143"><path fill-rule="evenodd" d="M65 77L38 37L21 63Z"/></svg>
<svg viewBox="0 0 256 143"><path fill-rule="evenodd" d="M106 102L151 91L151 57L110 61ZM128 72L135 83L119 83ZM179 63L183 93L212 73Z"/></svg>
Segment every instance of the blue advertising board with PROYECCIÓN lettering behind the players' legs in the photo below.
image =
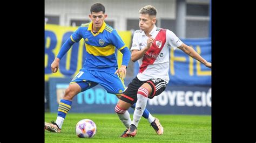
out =
<svg viewBox="0 0 256 143"><path fill-rule="evenodd" d="M126 79L125 85L132 79ZM60 99L71 78L49 78L50 112L57 112ZM70 112L115 113L116 95L108 94L100 85L78 94ZM149 99L147 109L151 113L211 115L211 87L167 86L166 90ZM133 112L129 109L130 113Z"/></svg>

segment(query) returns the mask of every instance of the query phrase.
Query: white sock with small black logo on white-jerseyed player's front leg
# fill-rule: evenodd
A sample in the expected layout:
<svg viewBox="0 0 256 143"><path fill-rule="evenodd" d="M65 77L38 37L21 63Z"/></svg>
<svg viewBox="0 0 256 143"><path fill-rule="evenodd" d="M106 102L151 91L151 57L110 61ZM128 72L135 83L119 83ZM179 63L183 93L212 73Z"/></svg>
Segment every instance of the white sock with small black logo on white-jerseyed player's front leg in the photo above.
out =
<svg viewBox="0 0 256 143"><path fill-rule="evenodd" d="M146 108L147 105L147 97L137 94L138 101L135 106L134 114L133 114L133 120L132 124L138 127L139 120L142 118L143 112Z"/></svg>

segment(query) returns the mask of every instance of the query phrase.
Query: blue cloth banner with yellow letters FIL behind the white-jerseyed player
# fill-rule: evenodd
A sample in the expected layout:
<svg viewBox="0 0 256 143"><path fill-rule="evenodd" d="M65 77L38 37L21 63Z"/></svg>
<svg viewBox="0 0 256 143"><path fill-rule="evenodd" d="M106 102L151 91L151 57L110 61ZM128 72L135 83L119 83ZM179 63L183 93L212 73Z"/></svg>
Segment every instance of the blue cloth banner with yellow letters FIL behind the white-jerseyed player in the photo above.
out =
<svg viewBox="0 0 256 143"><path fill-rule="evenodd" d="M194 48L208 62L212 61L211 38L181 39ZM138 74L138 62L134 63L134 76ZM169 85L211 85L211 69L194 60L180 49L170 49Z"/></svg>

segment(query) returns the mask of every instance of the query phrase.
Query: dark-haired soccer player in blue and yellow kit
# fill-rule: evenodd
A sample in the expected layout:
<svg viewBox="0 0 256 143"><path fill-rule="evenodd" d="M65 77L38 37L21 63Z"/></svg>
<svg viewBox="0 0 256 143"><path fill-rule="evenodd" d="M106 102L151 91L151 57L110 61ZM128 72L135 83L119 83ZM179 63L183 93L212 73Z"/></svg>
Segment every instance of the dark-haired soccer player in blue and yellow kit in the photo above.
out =
<svg viewBox="0 0 256 143"><path fill-rule="evenodd" d="M71 108L72 99L79 92L100 84L108 93L120 98L120 95L125 90L123 78L126 75L126 67L131 58L130 50L125 46L117 31L104 22L104 19L107 17L104 5L100 3L93 4L89 17L92 22L82 24L71 35L51 64L52 72L56 73L59 68L60 59L75 42L79 42L82 38L84 39L86 46L85 63L79 73L73 77L68 89L65 90L63 99L60 100L56 122L45 122L45 129L48 131L60 132L66 114ZM118 68L116 54L114 53L115 47L123 53L123 61L120 68ZM134 107L135 104L133 105ZM116 106L116 111L124 114L120 120L124 123L126 129L129 128L129 123L131 123L131 121L127 121L127 119L130 119L129 112L125 112L122 108L118 108L118 106ZM152 123L155 119L147 110L144 111L143 117L149 123Z"/></svg>

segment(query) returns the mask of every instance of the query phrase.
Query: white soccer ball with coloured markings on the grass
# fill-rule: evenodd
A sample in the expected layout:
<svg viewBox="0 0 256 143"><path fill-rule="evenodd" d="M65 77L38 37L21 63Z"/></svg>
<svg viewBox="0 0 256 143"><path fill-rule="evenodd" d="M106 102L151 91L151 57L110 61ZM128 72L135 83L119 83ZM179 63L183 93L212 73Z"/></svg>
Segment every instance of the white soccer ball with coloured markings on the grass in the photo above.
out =
<svg viewBox="0 0 256 143"><path fill-rule="evenodd" d="M96 131L96 124L90 119L80 120L76 125L76 134L79 138L92 138Z"/></svg>

